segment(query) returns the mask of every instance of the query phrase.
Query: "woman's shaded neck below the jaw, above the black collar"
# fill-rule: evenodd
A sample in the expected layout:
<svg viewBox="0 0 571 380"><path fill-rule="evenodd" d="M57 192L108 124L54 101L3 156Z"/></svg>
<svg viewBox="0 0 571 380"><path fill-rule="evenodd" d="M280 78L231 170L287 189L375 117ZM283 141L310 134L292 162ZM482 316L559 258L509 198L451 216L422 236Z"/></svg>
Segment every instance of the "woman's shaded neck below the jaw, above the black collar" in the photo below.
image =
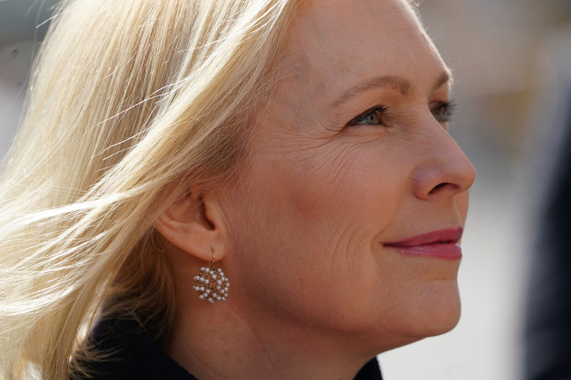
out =
<svg viewBox="0 0 571 380"><path fill-rule="evenodd" d="M245 312L230 297L189 301L178 303L166 350L198 379L353 379L374 356L355 354L352 339Z"/></svg>

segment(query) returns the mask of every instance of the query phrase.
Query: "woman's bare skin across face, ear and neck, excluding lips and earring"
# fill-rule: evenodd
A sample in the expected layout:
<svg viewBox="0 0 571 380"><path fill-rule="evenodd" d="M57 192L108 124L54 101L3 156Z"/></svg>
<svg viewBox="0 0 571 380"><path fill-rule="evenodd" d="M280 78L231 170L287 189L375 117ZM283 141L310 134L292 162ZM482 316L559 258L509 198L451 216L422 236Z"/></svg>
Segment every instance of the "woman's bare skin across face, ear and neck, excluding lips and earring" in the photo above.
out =
<svg viewBox="0 0 571 380"><path fill-rule="evenodd" d="M384 245L462 227L475 179L435 118L448 69L413 12L400 0L306 1L282 63L239 183L156 222L177 297L165 349L199 379L353 379L375 354L460 317L460 260ZM378 76L408 85L338 101ZM389 108L348 125L375 106ZM216 304L192 290L211 248L231 282Z"/></svg>

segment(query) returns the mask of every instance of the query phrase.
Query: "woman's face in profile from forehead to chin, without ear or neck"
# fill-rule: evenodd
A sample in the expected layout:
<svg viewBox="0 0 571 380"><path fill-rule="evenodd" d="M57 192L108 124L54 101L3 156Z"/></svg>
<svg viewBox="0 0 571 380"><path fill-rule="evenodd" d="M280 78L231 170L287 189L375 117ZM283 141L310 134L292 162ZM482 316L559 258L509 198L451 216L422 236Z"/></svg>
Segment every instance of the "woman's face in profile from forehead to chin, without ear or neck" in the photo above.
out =
<svg viewBox="0 0 571 380"><path fill-rule="evenodd" d="M385 349L448 331L453 244L389 246L466 217L475 170L448 133L438 51L403 1L314 0L282 58L251 161L222 192L228 302Z"/></svg>

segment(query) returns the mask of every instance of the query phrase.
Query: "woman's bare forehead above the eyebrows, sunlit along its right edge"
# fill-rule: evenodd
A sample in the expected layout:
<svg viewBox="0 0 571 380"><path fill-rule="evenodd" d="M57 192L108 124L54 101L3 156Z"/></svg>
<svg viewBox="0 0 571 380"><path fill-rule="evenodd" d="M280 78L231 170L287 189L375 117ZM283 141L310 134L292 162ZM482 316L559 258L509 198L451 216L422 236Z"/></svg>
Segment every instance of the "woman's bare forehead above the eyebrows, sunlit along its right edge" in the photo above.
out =
<svg viewBox="0 0 571 380"><path fill-rule="evenodd" d="M445 69L405 0L302 1L284 53L305 92L328 98L380 75L432 84Z"/></svg>

